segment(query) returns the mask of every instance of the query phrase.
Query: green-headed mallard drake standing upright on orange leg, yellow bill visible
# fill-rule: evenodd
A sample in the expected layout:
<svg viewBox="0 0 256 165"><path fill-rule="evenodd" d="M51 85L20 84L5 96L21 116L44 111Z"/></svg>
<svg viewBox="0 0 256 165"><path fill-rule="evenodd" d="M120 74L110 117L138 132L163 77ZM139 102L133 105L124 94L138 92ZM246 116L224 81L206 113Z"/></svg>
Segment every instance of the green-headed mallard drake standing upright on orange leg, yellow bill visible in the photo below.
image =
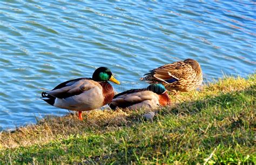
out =
<svg viewBox="0 0 256 165"><path fill-rule="evenodd" d="M78 111L79 120L82 111L90 111L109 104L113 97L113 87L107 82L120 84L107 67L99 67L92 78L78 78L57 85L53 90L42 92L42 98L48 104Z"/></svg>

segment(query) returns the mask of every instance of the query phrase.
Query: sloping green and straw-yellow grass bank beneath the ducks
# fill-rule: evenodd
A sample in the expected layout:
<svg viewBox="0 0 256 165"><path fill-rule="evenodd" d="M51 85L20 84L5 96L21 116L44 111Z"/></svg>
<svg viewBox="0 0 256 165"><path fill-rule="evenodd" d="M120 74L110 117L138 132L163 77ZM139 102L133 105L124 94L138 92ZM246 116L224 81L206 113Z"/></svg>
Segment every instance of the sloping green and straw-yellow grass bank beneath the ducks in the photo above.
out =
<svg viewBox="0 0 256 165"><path fill-rule="evenodd" d="M1 164L255 164L256 74L224 78L145 111L46 118L0 134Z"/></svg>

